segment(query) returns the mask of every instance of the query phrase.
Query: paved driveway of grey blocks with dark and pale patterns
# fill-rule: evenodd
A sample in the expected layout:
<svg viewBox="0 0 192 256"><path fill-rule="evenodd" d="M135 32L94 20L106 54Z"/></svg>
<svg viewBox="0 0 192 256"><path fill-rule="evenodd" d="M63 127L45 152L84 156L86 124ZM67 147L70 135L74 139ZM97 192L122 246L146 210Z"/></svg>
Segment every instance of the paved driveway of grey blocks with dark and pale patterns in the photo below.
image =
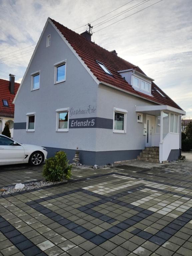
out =
<svg viewBox="0 0 192 256"><path fill-rule="evenodd" d="M74 168L71 182L0 197L2 255L191 256L192 161Z"/></svg>

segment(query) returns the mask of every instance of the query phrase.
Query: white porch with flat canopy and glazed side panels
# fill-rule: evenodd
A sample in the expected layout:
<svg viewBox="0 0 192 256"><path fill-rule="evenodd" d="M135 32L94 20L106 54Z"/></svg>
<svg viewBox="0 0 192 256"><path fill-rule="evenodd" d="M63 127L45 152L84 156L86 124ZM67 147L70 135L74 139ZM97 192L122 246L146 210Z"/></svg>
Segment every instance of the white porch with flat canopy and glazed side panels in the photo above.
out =
<svg viewBox="0 0 192 256"><path fill-rule="evenodd" d="M151 133L151 146L159 147L159 161L162 163L169 157L171 150L181 148L181 116L185 111L167 105L136 106L136 112L153 116L155 128ZM143 116L145 126L145 115Z"/></svg>

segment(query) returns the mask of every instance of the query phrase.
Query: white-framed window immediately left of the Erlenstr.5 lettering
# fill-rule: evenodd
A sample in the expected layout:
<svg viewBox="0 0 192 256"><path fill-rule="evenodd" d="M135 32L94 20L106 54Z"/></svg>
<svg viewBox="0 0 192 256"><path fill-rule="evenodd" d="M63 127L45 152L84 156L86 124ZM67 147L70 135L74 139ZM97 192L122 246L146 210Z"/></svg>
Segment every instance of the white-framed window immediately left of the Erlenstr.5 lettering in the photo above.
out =
<svg viewBox="0 0 192 256"><path fill-rule="evenodd" d="M56 132L69 131L69 108L60 108L57 112Z"/></svg>

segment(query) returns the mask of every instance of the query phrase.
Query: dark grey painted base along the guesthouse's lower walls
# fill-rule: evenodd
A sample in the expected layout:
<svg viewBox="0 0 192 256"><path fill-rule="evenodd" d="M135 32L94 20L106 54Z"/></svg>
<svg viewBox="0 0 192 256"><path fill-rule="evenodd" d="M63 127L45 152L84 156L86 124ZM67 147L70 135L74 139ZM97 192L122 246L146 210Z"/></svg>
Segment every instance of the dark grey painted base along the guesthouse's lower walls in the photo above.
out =
<svg viewBox="0 0 192 256"><path fill-rule="evenodd" d="M45 147L48 151L47 158L55 155L57 151L65 151L69 162L72 163L75 156L74 149ZM119 150L119 151L85 151L80 150L80 163L88 165L103 165L116 161L136 159L142 150Z"/></svg>

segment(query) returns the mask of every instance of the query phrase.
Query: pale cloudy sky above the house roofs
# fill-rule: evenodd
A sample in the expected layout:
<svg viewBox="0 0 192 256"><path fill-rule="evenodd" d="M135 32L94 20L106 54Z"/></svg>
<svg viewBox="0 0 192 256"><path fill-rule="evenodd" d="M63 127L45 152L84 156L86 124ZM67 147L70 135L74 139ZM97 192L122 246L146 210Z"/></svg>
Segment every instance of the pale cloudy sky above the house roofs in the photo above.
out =
<svg viewBox="0 0 192 256"><path fill-rule="evenodd" d="M21 82L48 17L80 33L91 23L95 43L139 66L192 119L192 1L158 1L0 0L0 78Z"/></svg>

